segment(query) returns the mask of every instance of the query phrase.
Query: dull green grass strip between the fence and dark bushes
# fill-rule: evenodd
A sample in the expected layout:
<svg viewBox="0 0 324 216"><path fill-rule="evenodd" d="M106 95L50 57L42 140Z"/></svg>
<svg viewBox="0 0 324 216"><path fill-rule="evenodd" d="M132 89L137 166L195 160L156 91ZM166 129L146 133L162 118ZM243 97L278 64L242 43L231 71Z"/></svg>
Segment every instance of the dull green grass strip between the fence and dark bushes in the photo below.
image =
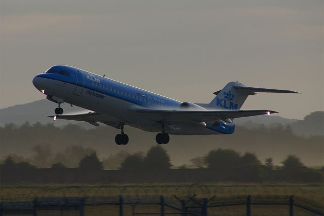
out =
<svg viewBox="0 0 324 216"><path fill-rule="evenodd" d="M197 197L237 195L296 195L323 203L324 184L288 183L143 183L143 184L12 184L1 185L1 200L31 200L34 197L84 197L116 195L177 195Z"/></svg>

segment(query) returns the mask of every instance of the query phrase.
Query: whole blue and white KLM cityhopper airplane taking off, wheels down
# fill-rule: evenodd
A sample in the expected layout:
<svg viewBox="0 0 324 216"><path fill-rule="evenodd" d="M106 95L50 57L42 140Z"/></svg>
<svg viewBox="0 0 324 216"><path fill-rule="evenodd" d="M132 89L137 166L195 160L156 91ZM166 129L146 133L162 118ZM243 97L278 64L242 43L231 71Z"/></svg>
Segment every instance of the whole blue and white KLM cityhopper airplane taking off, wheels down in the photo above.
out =
<svg viewBox="0 0 324 216"><path fill-rule="evenodd" d="M32 80L33 85L58 104L55 115L48 117L85 121L99 126L103 123L120 129L117 145L126 145L129 137L124 125L157 132L158 144L167 144L169 134L205 135L232 134L233 119L270 115L270 110L240 110L249 95L257 92L299 93L289 90L254 88L229 82L214 92L210 103L181 102L125 83L108 79L72 66L55 65ZM62 115L62 103L83 107L91 112Z"/></svg>

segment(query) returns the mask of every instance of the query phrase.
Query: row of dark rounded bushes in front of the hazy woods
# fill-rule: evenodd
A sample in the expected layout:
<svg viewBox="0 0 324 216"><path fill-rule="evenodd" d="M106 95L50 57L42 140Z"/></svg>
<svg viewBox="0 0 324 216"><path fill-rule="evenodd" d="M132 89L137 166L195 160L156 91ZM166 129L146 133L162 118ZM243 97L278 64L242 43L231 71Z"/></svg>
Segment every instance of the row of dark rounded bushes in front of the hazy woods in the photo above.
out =
<svg viewBox="0 0 324 216"><path fill-rule="evenodd" d="M120 170L167 170L171 168L187 169L187 165L173 166L170 156L167 151L161 146L153 146L146 153L138 152L129 154L127 152L119 152L110 158L100 160L97 153L91 149L83 149L81 147L68 147L66 154L73 153L73 150L80 150L84 154L79 157L77 168L102 170L104 163L111 162L111 160L119 159L117 166ZM42 155L42 152L51 152L48 147L36 146L33 151L35 155L33 159L41 162L45 160L50 154ZM39 154L41 153L41 154ZM56 156L56 158L59 158ZM1 169L35 169L37 166L32 162L19 161L15 155L8 155L0 164ZM63 159L63 158L61 158ZM70 158L72 159L72 158ZM74 160L74 158L73 158ZM66 169L66 164L54 162L51 164L52 169ZM232 177L233 181L304 181L304 182L321 182L323 181L324 168L315 170L307 168L295 155L288 155L287 158L281 162L281 166L275 166L272 158L267 158L262 163L258 157L253 153L240 154L232 149L216 149L210 151L207 155L196 157L190 160L195 168L208 168L215 174L234 173L236 177ZM116 165L115 165L116 166Z"/></svg>

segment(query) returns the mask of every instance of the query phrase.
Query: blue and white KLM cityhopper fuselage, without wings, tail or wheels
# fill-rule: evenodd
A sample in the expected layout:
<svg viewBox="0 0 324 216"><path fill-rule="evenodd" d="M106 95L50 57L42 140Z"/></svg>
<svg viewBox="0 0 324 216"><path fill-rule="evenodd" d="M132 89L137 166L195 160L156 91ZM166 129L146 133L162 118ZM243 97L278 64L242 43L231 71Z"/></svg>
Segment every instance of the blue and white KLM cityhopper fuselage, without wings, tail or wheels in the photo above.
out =
<svg viewBox="0 0 324 216"><path fill-rule="evenodd" d="M177 110L182 104L178 100L65 65L53 66L46 73L37 75L33 84L52 101L70 103L110 116L114 121L105 124L117 128L119 122L145 131L161 132L161 122L152 121L149 115L137 113L134 108ZM176 135L231 134L234 124L224 121L218 124L186 122L164 125L164 131Z"/></svg>

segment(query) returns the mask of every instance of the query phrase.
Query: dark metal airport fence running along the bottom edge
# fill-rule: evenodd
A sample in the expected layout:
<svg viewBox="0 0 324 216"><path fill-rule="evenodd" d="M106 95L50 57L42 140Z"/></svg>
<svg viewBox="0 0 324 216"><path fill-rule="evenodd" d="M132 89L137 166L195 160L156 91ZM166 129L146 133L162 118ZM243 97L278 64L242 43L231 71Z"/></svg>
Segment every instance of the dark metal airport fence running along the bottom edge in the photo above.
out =
<svg viewBox="0 0 324 216"><path fill-rule="evenodd" d="M32 201L2 201L1 216L299 216L324 215L322 204L298 196L248 195L197 198L164 196L105 196L34 198Z"/></svg>

